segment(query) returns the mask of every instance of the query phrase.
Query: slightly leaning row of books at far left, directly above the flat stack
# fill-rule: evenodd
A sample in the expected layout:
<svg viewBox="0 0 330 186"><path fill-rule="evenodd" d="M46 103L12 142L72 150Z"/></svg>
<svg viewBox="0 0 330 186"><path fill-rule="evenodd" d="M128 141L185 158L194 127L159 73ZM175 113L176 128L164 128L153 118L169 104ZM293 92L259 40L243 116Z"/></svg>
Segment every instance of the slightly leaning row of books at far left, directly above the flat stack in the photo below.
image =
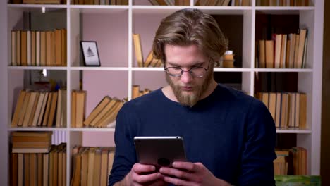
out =
<svg viewBox="0 0 330 186"><path fill-rule="evenodd" d="M66 90L21 90L11 127L65 127Z"/></svg>

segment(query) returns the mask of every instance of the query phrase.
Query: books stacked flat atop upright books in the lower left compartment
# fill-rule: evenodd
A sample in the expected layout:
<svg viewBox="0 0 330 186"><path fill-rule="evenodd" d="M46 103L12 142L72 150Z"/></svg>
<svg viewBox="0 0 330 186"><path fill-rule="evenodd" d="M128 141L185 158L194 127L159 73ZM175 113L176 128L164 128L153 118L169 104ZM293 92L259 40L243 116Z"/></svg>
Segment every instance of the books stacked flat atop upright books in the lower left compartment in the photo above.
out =
<svg viewBox="0 0 330 186"><path fill-rule="evenodd" d="M13 153L48 153L52 132L12 132Z"/></svg>

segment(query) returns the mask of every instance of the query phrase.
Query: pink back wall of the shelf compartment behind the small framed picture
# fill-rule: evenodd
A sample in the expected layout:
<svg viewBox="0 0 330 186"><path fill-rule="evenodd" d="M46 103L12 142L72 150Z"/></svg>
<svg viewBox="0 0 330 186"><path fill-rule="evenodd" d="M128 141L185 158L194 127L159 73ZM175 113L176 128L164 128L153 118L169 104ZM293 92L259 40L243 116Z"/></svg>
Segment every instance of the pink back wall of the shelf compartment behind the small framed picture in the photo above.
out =
<svg viewBox="0 0 330 186"><path fill-rule="evenodd" d="M82 40L96 41L102 66L128 67L128 11L83 13Z"/></svg>

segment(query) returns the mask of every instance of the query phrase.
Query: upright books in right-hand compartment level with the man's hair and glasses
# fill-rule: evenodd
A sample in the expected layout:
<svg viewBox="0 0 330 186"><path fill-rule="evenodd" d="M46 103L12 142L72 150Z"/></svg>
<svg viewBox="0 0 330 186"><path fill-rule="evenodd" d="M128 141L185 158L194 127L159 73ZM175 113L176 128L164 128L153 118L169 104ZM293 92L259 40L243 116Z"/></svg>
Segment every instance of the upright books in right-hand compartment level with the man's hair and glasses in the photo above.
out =
<svg viewBox="0 0 330 186"><path fill-rule="evenodd" d="M299 29L297 34L274 34L273 39L257 44L258 68L305 68L307 29Z"/></svg>

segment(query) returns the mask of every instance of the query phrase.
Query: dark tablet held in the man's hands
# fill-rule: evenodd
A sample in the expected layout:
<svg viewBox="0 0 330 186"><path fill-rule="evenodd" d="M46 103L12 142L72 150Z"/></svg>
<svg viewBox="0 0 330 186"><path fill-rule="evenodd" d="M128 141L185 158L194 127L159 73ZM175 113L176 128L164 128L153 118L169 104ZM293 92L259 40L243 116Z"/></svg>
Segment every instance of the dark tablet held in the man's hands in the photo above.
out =
<svg viewBox="0 0 330 186"><path fill-rule="evenodd" d="M169 137L134 137L138 161L142 164L171 166L173 161L187 161L183 138Z"/></svg>

